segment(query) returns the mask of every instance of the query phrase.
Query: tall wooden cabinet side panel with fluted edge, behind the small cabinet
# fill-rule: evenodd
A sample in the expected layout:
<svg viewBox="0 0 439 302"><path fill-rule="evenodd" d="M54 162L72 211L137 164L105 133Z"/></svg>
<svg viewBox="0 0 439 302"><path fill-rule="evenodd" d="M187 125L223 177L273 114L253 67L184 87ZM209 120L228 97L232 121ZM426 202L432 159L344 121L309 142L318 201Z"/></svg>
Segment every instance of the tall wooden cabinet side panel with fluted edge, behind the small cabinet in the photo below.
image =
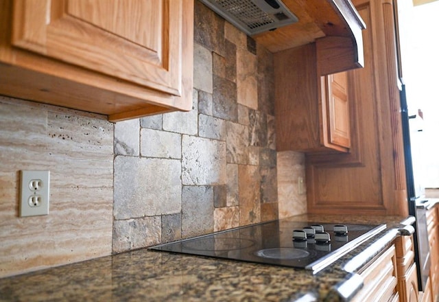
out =
<svg viewBox="0 0 439 302"><path fill-rule="evenodd" d="M365 66L347 72L351 148L307 154L307 209L407 216L394 1L353 3L366 30Z"/></svg>

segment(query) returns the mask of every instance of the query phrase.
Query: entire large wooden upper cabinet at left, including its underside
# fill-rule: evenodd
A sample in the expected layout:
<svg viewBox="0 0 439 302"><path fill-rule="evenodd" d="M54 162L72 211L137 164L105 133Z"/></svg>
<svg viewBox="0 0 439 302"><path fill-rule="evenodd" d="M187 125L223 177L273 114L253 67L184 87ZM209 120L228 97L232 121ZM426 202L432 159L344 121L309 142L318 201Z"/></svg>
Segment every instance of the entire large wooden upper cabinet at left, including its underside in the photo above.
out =
<svg viewBox="0 0 439 302"><path fill-rule="evenodd" d="M193 0L0 5L0 93L110 121L191 109Z"/></svg>

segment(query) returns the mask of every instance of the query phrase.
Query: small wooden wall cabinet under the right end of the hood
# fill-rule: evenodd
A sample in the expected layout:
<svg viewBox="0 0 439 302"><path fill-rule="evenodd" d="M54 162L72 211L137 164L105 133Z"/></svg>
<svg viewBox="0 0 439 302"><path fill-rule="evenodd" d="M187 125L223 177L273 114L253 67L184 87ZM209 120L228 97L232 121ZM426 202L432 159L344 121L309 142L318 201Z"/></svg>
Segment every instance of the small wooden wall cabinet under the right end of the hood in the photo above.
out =
<svg viewBox="0 0 439 302"><path fill-rule="evenodd" d="M274 54L278 151L348 152L346 71L320 77L316 45Z"/></svg>

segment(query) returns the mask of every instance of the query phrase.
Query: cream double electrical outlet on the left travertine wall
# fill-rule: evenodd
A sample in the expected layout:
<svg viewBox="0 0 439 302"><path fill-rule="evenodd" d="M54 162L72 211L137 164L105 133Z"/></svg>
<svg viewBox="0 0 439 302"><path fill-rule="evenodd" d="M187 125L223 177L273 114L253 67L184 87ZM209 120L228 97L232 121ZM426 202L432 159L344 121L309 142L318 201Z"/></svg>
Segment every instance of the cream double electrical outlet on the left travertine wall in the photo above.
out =
<svg viewBox="0 0 439 302"><path fill-rule="evenodd" d="M49 185L49 171L21 171L21 217L49 214Z"/></svg>

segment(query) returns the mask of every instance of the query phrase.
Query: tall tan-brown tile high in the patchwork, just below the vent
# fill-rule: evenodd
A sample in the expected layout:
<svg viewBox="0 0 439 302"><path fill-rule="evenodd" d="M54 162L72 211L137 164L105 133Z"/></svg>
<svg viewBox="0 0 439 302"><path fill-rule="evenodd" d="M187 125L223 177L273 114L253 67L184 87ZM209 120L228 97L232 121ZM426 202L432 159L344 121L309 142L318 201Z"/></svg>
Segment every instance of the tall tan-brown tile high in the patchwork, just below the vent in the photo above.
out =
<svg viewBox="0 0 439 302"><path fill-rule="evenodd" d="M237 102L258 108L257 56L246 49L237 49Z"/></svg>

